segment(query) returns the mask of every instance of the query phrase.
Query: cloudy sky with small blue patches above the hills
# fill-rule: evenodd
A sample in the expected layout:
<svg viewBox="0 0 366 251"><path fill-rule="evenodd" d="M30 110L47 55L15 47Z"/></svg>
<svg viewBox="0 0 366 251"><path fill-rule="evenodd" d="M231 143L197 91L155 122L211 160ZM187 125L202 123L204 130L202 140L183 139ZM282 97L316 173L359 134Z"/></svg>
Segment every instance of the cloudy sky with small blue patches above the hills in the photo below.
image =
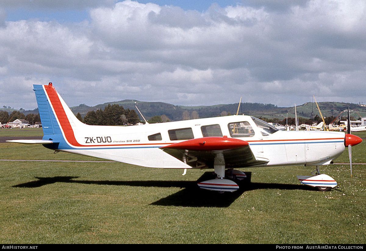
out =
<svg viewBox="0 0 366 251"><path fill-rule="evenodd" d="M364 0L0 0L0 107L366 104Z"/></svg>

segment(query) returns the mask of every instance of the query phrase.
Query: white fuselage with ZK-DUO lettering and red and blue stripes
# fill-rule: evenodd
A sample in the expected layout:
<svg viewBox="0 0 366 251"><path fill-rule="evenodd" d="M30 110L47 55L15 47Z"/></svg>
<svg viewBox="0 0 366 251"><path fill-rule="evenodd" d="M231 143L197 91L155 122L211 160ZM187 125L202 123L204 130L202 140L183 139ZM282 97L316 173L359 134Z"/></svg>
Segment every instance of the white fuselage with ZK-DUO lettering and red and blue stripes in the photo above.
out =
<svg viewBox="0 0 366 251"><path fill-rule="evenodd" d="M258 119L244 115L123 127L89 126L69 113L74 143L68 140L70 132L63 132L67 145L58 150L153 168L192 168L160 147L204 136L247 141L256 158L269 160L264 166L329 164L345 149L343 132L267 133L254 122Z"/></svg>

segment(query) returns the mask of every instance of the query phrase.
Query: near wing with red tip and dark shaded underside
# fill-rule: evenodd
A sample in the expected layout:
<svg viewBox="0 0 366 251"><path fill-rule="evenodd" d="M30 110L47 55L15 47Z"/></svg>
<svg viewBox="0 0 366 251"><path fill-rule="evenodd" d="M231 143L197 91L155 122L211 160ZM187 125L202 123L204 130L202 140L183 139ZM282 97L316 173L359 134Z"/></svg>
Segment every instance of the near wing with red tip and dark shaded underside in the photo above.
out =
<svg viewBox="0 0 366 251"><path fill-rule="evenodd" d="M227 137L190 139L160 149L193 168L214 168L215 160L224 161L226 168L269 162L265 158L256 158L248 142Z"/></svg>

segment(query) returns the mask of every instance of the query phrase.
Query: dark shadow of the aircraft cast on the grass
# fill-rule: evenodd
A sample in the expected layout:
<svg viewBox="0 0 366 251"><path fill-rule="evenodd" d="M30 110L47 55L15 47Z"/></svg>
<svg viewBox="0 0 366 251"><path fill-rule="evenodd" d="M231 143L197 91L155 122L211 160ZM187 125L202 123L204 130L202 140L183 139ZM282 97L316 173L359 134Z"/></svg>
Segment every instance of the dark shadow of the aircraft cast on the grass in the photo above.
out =
<svg viewBox="0 0 366 251"><path fill-rule="evenodd" d="M179 187L182 190L171 194L165 198L161 198L150 205L159 206L186 206L186 207L228 207L243 192L257 189L280 189L280 190L315 190L312 187L295 184L278 184L278 183L252 183L251 172L246 172L247 179L241 182L239 190L235 192L225 192L219 194L214 191L207 191L199 188L197 182L207 180L212 177L213 172L205 172L197 181L111 181L111 180L73 180L78 176L55 176L55 177L35 177L37 180L18 184L12 187L35 188L56 182L63 183L79 183L79 184L97 184L110 186L138 186L138 187Z"/></svg>

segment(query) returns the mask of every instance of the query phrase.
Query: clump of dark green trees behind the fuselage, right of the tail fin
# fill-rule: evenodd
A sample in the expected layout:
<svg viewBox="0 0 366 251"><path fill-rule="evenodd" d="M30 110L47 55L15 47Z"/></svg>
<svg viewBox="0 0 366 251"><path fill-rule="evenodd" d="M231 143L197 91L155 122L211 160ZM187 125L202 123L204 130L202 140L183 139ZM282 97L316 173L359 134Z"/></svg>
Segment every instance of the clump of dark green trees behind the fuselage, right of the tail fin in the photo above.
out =
<svg viewBox="0 0 366 251"><path fill-rule="evenodd" d="M118 104L109 104L105 106L104 110L92 110L84 118L80 113L76 117L85 124L100 126L131 125L140 122L135 110L124 109Z"/></svg>

